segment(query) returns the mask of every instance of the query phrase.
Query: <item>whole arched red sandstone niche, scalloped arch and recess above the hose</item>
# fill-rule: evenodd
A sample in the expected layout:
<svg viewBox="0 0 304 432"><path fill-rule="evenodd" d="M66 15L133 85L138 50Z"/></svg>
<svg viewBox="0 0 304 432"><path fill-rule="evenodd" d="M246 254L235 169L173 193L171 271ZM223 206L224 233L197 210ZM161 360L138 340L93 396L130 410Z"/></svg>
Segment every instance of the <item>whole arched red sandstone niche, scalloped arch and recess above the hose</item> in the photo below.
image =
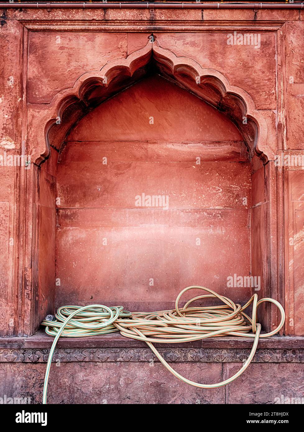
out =
<svg viewBox="0 0 304 432"><path fill-rule="evenodd" d="M246 92L148 42L80 76L39 123L37 324L65 303L170 308L192 284L241 303L268 295L273 155ZM143 193L169 208L137 206ZM258 289L227 287L234 274Z"/></svg>

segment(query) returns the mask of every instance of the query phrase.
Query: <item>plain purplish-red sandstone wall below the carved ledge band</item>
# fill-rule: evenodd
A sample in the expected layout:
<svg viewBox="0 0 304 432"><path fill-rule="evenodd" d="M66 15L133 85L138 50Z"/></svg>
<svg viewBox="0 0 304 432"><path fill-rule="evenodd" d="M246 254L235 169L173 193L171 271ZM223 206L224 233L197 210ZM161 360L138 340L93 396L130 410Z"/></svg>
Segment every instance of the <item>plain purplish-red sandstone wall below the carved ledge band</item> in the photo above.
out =
<svg viewBox="0 0 304 432"><path fill-rule="evenodd" d="M173 367L189 379L211 384L236 373L240 363L174 363ZM0 394L30 397L31 403L41 403L44 364L19 364L17 368L0 363L0 373ZM282 395L301 400L303 374L302 364L253 363L233 383L206 390L173 378L160 363L62 363L52 368L48 403L272 404L282 400Z"/></svg>

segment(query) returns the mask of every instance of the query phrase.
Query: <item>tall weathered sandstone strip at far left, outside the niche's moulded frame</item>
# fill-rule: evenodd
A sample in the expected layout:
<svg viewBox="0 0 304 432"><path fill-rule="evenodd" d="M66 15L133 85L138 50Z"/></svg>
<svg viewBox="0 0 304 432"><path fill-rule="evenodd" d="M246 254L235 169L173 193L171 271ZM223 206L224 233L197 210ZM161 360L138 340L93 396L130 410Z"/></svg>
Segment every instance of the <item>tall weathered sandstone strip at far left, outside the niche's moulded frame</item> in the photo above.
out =
<svg viewBox="0 0 304 432"><path fill-rule="evenodd" d="M19 173L6 156L21 152L23 27L6 19L0 25L0 336L16 334Z"/></svg>

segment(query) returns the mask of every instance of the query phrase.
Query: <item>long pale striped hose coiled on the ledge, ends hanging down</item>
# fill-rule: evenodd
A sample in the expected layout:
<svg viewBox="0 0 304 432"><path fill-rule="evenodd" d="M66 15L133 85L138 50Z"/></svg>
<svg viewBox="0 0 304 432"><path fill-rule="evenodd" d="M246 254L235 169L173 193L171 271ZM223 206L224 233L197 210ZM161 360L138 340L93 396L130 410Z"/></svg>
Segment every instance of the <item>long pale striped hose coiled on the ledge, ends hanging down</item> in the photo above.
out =
<svg viewBox="0 0 304 432"><path fill-rule="evenodd" d="M198 295L190 299L182 309L179 309L179 300L189 289L202 289L208 294ZM195 300L216 297L224 304L220 306L190 306ZM257 308L263 302L271 302L276 305L281 313L281 321L275 330L266 334L260 334L261 324L257 323ZM252 304L252 318L244 310ZM43 401L47 400L48 377L51 361L60 336L85 337L96 336L115 331L120 331L125 337L142 340L154 352L163 365L181 381L199 388L216 388L229 384L238 378L250 365L260 337L269 337L278 333L285 322L285 312L282 305L274 299L264 298L258 301L257 294L244 306L235 305L224 295L219 295L211 289L203 286L188 286L183 289L176 298L175 309L156 312L128 312L122 306L107 307L104 305L87 306L63 306L55 315L56 321L42 321L47 334L54 337L48 356L43 388ZM201 384L190 381L176 372L163 359L153 343L182 343L192 340L206 339L216 336L252 337L253 347L250 355L240 370L232 377L217 384Z"/></svg>

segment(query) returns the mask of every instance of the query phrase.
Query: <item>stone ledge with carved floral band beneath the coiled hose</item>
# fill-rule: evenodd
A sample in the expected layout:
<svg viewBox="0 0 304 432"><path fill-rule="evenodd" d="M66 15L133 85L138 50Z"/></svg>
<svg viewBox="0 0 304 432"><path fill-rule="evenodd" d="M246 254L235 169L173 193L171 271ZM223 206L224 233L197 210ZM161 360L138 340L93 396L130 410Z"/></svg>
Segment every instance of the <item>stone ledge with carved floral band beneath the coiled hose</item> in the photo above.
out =
<svg viewBox="0 0 304 432"><path fill-rule="evenodd" d="M53 338L39 330L31 337L0 338L0 362L46 362ZM189 343L157 344L169 362L242 362L253 339L215 337ZM62 362L150 362L144 342L112 333L99 337L61 338L54 359ZM304 337L260 339L254 362L304 362Z"/></svg>

